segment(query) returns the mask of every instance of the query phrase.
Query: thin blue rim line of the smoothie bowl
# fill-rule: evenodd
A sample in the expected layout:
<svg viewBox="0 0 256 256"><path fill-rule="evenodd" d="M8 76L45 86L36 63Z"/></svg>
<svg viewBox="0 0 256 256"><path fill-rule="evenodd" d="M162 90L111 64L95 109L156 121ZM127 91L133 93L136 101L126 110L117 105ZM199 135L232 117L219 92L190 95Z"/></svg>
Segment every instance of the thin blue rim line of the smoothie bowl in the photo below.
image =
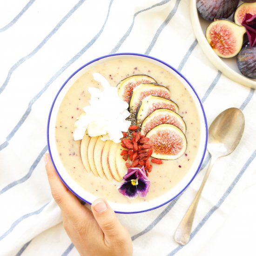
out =
<svg viewBox="0 0 256 256"><path fill-rule="evenodd" d="M149 58L149 59L152 59L152 60L155 60L155 61L158 61L164 65L166 65L167 67L171 68L175 73L177 73L179 76L181 76L188 84L189 86L191 87L191 89L193 90L193 92L195 93L196 97L197 97L197 100L199 101L200 103L200 106L201 106L201 109L202 109L202 114L203 114L203 118L204 118L204 124L205 124L205 134L206 134L206 141L205 141L205 145L204 145L204 150L203 150L203 155L202 155L202 159L201 159L201 162L199 163L199 166L197 168L197 170L195 171L195 175L191 178L191 180L189 181L189 183L175 196L173 196L171 199L169 199L167 202L164 202L160 205L157 205L153 208L150 208L150 209L146 209L146 210L141 210L141 211L133 211L133 212L122 212L122 211L115 211L116 213L122 213L122 214L132 214L132 213L141 213L141 212L146 212L146 211L150 211L150 210L154 210L154 209L157 209L165 204L167 204L168 202L171 202L173 199L175 199L178 195L182 194L182 192L187 189L187 187L189 186L189 184L194 180L195 176L197 175L201 165L202 165L202 162L203 162L203 159L204 159L204 156L205 156L205 153L206 153L206 148L207 148L207 141L208 141L208 127L207 127L207 120L206 120L206 115L205 115L205 112L204 112L204 109L203 109L203 106L202 106L202 102L200 100L200 98L198 97L198 94L196 93L194 87L190 84L190 82L179 72L177 71L174 67L170 66L168 63L164 62L164 61L161 61L155 57L152 57L152 56L149 56L149 55L145 55L145 54L138 54L138 53L116 53L116 54L108 54L108 55L104 55L104 56L101 56L99 58L96 58L92 61L89 61L88 63L86 63L85 65L83 65L82 67L80 67L79 69L77 69L73 74L71 74L68 79L64 82L64 84L61 86L60 90L58 91L58 93L56 94L55 98L54 98L54 101L52 103L52 106L50 108L50 112L49 112L49 115L48 115L48 121L47 121L47 144L48 144L48 151L49 151L49 155L51 157L51 160L53 162L53 165L54 165L54 168L57 172L57 174L59 175L61 181L66 185L66 187L72 191L72 193L74 193L74 195L76 195L78 198L80 198L81 200L83 200L84 202L87 202L88 204L92 204L92 202L88 202L86 199L82 198L80 195L77 195L73 189L71 189L67 183L62 179L59 171L57 170L56 166L55 166L55 163L54 163L54 159L52 157L52 153L51 153L51 148L50 148L50 142L49 142L49 125L50 125L50 118L51 118L51 114L52 114L52 111L53 111L53 108L54 108L54 104L55 104L55 101L57 99L57 97L59 96L61 90L64 88L64 86L67 84L67 82L76 74L78 73L82 68L90 65L91 63L95 62L95 61L99 61L101 59L105 59L105 58L108 58L108 57L112 57L112 56L118 56L118 55L135 55L135 56L141 56L141 57L146 57L146 58Z"/></svg>

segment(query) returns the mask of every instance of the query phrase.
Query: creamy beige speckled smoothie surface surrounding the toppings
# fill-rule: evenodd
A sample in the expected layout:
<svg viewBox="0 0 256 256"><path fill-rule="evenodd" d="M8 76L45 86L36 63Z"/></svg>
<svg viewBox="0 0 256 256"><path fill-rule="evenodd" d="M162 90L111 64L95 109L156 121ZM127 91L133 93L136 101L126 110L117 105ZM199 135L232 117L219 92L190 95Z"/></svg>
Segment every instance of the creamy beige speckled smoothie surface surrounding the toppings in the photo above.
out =
<svg viewBox="0 0 256 256"><path fill-rule="evenodd" d="M176 160L164 160L161 165L152 164L152 172L148 174L151 185L146 198L128 199L118 192L119 182L115 180L109 182L105 177L96 177L92 172L88 173L82 164L81 141L73 139L74 123L83 112L82 108L88 105L90 99L88 87L101 88L101 85L94 81L94 73L103 75L114 87L121 80L134 74L147 74L153 77L157 83L170 90L171 100L178 105L178 114L186 123L187 149L185 154ZM122 59L121 57L95 65L74 82L61 102L55 126L57 150L68 174L89 193L118 203L150 201L174 188L187 174L195 160L200 135L201 126L195 102L178 78L164 68L148 61Z"/></svg>

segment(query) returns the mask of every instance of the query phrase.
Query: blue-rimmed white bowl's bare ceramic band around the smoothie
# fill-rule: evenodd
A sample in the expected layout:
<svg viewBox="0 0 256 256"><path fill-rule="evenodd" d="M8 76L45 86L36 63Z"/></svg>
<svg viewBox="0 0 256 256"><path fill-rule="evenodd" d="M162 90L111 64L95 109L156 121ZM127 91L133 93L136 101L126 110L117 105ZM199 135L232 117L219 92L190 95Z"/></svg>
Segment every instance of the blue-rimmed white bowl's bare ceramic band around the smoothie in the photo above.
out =
<svg viewBox="0 0 256 256"><path fill-rule="evenodd" d="M76 183L73 178L68 174L67 170L63 166L61 159L59 157L59 153L57 151L57 146L55 143L55 123L56 123L56 116L61 105L61 101L65 94L67 93L68 89L73 85L74 81L76 81L82 74L87 72L92 66L113 60L113 59L124 59L124 58L133 58L133 59L142 59L148 62L153 62L154 64L163 67L164 69L168 70L171 74L177 77L185 88L189 91L193 101L195 101L196 108L199 113L199 120L201 126L201 136L200 136L200 144L198 148L198 153L195 157L195 162L192 164L191 168L189 169L188 173L183 177L182 181L179 182L173 189L166 192L164 195L151 200L149 202L142 202L136 204L124 204L124 203L116 203L116 202L109 202L111 207L118 213L137 213L155 209L160 207L167 202L173 200L177 195L181 194L184 189L186 189L190 182L194 179L195 175L197 174L204 155L206 151L207 145L207 121L204 114L204 110L202 107L202 103L195 92L195 89L190 85L189 81L186 80L185 77L182 76L178 71L176 71L173 67L169 66L167 63L157 60L153 57L148 55L142 54L111 54L107 56L100 57L94 61L90 61L89 63L85 64L83 67L79 68L77 71L72 74L67 81L62 85L60 91L56 95L54 102L52 104L49 118L48 118L48 125L47 125L47 142L48 142L48 149L51 155L54 167L60 176L61 180L66 184L67 188L70 189L76 196L81 198L81 200L88 202L91 204L95 199L95 195L90 194L86 189L83 189L78 183Z"/></svg>

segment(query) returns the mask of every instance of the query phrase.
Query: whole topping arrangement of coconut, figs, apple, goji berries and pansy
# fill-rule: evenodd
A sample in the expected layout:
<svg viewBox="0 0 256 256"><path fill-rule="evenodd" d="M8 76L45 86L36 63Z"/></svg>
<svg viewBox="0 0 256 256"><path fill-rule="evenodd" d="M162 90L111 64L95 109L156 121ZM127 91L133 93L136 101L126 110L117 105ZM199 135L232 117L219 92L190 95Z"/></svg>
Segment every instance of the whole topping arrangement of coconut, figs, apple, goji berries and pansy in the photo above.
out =
<svg viewBox="0 0 256 256"><path fill-rule="evenodd" d="M146 74L127 77L116 88L101 74L94 80L103 91L88 89L90 105L75 122L82 163L95 176L120 182L122 195L145 197L153 164L185 153L186 124L169 89Z"/></svg>

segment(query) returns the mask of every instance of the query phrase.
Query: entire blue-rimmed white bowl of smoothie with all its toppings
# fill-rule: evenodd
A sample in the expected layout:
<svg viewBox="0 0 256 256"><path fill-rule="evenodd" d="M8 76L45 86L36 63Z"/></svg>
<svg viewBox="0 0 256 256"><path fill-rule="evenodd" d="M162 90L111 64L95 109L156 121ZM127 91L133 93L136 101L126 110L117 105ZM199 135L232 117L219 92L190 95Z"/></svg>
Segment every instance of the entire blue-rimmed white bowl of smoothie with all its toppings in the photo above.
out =
<svg viewBox="0 0 256 256"><path fill-rule="evenodd" d="M182 74L142 54L85 64L52 104L47 142L77 197L105 198L118 213L155 209L197 174L207 145L202 104Z"/></svg>

